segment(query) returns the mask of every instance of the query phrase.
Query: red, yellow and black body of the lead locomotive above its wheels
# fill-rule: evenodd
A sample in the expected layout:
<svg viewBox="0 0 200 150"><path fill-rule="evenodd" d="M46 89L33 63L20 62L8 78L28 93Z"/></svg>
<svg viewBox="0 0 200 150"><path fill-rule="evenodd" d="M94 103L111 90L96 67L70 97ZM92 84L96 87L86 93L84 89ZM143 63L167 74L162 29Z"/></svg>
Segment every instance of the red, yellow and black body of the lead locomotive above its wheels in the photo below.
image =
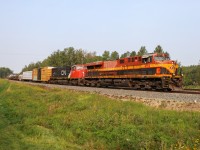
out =
<svg viewBox="0 0 200 150"><path fill-rule="evenodd" d="M88 63L85 66L88 68L86 79L113 79L113 82L116 79L130 79L139 82L151 81L152 84L153 79L160 79L161 84L166 80L166 88L170 88L170 85L182 85L182 77L178 75L178 64L166 54L147 54L142 57Z"/></svg>

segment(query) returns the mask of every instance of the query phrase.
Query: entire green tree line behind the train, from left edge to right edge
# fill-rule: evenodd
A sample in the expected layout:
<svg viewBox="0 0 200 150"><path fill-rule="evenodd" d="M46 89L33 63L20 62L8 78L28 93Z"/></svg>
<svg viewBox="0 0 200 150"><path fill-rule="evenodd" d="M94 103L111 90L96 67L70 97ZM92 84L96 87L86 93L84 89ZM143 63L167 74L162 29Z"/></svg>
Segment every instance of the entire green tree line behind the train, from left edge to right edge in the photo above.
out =
<svg viewBox="0 0 200 150"><path fill-rule="evenodd" d="M145 46L141 46L138 52L126 51L121 55L119 55L117 51L110 52L108 50L105 50L101 56L98 56L96 52L87 52L83 49L75 49L73 47L68 47L62 51L54 51L43 61L38 61L36 63L30 63L29 65L25 65L21 73L23 71L30 71L34 68L40 68L45 66L72 66L75 64L85 64L95 61L116 60L119 58L131 57L136 55L142 56L147 53L148 51ZM170 54L167 51L164 51L160 45L158 45L155 48L154 53L166 53L170 57ZM12 73L13 71L9 68L0 68L0 78L5 78ZM198 65L182 66L182 73L184 75L184 85L200 85L200 61Z"/></svg>

